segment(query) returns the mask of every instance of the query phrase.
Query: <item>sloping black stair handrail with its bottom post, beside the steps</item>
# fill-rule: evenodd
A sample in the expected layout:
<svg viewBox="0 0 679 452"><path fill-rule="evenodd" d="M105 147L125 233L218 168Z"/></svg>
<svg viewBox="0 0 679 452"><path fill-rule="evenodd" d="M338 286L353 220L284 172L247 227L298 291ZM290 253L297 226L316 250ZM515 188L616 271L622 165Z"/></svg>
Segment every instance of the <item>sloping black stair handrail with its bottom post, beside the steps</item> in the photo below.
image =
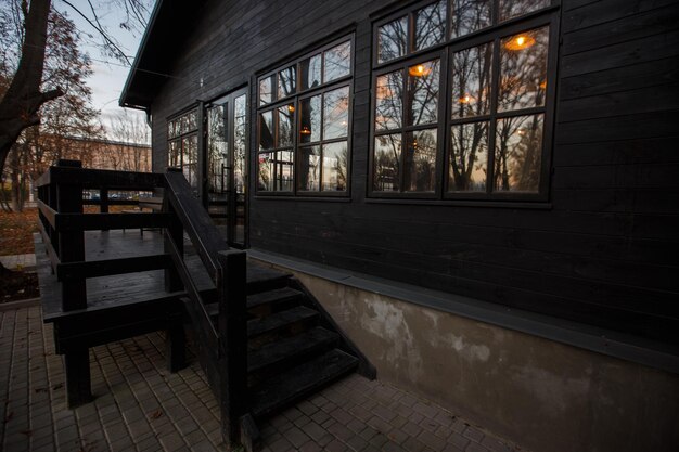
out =
<svg viewBox="0 0 679 452"><path fill-rule="evenodd" d="M163 211L172 218L165 234L165 250L175 262L175 268L167 270L166 282L175 284L177 279L172 272L177 272L183 283L187 310L196 326L198 356L220 403L222 436L227 443L236 443L247 393L246 255L229 249L179 170L168 169L165 182ZM183 262L184 233L215 283L219 310L217 328L206 309L209 300L202 298Z"/></svg>

